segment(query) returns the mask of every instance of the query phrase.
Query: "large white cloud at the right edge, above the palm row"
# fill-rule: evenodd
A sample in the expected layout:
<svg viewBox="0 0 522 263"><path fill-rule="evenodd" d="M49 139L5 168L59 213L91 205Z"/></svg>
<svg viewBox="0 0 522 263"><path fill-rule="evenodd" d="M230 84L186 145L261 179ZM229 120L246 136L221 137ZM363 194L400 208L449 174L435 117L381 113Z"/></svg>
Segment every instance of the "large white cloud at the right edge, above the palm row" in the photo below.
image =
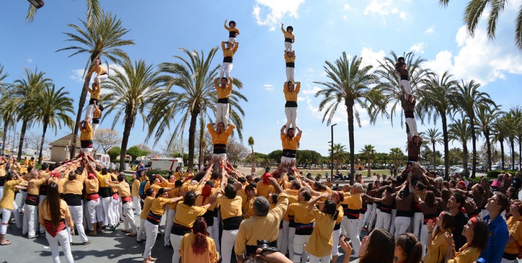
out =
<svg viewBox="0 0 522 263"><path fill-rule="evenodd" d="M434 60L425 62L425 67L439 74L447 70L456 79L474 79L482 85L505 79L505 73L522 74L522 54L514 47L511 35L497 35L491 42L484 29L477 28L471 38L462 26L455 41L460 47L458 54L443 50Z"/></svg>

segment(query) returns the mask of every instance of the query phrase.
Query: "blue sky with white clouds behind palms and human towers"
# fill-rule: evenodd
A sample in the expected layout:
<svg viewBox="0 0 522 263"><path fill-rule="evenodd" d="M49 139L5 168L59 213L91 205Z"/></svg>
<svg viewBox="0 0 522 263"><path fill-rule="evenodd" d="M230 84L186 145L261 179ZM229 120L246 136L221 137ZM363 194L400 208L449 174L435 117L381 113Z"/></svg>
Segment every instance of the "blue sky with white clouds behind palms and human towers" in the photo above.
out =
<svg viewBox="0 0 522 263"><path fill-rule="evenodd" d="M123 27L131 30L126 37L136 44L124 47L129 57L144 59L153 65L176 61L173 56L183 55L180 47L207 54L228 39L224 20L236 21L241 31L237 37L240 47L234 56L231 76L243 82L241 92L248 98L248 102L242 104L244 144L252 136L254 150L266 154L281 148L279 130L286 123L282 85L286 75L280 23L292 26L295 80L302 83L297 117L297 125L303 130L301 149L327 155L330 127L322 121L323 112L318 111L321 97L314 96L321 86L313 82L328 81L323 69L325 60L334 61L342 52L360 56L363 64L376 67L377 60L389 56L391 51L397 54L412 51L426 59L424 67L436 73L447 70L456 80L476 80L482 85L480 90L489 93L503 110L520 104L522 52L514 44L514 21L522 0L510 1L511 5L497 22L494 41L485 34L487 12L474 37L467 35L462 23L466 2L450 1L449 6L443 8L437 0L248 0L226 5L201 0L149 1L147 4L103 1L102 8L120 18ZM65 86L75 99L76 111L88 56L68 57L71 52L56 51L73 44L64 42L63 33L72 32L67 24L85 20L85 1L46 1L31 24L25 21L27 8L26 1L0 4L0 24L3 25L0 64L9 73L5 81L21 77L22 68L38 68L46 72L46 77L56 86ZM221 51L213 60L215 65L220 62ZM370 123L364 110L360 110L360 114L362 127L356 125L354 131L356 153L365 144L374 145L377 152L389 152L392 147L404 149L406 132L401 127L400 112L396 112L393 123L379 118L375 124ZM110 128L112 119L107 116L100 128ZM346 108L338 109L333 123L338 124L334 127L334 142L348 148ZM440 120L424 124L418 120L419 131L428 128L442 131ZM123 134L123 123L118 123L114 130ZM41 134L41 127L31 127L29 132ZM48 131L46 138L54 141L68 133L67 129L58 130L56 134ZM143 120L137 118L129 146L143 143L145 137ZM163 143L162 138L158 145L153 145L153 140L148 145L159 150ZM480 140L478 145L482 143ZM442 145L436 147L442 151ZM450 143L450 147L461 145L455 142Z"/></svg>

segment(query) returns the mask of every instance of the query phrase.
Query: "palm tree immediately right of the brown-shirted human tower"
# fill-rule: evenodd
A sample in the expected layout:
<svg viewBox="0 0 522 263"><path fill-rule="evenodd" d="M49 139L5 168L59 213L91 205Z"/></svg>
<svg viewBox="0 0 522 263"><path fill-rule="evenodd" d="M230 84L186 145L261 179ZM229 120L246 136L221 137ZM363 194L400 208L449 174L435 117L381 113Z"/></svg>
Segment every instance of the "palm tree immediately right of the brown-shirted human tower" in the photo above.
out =
<svg viewBox="0 0 522 263"><path fill-rule="evenodd" d="M448 98L454 97L457 89L457 82L450 80L452 75L447 71L442 76L428 76L423 81L423 87L419 90L420 100L417 104L420 118L428 117L428 121L433 118L436 124L438 117L442 120L442 135L444 142L444 176L447 178L449 173L449 147L448 147L448 128L447 116L450 114L452 105Z"/></svg>

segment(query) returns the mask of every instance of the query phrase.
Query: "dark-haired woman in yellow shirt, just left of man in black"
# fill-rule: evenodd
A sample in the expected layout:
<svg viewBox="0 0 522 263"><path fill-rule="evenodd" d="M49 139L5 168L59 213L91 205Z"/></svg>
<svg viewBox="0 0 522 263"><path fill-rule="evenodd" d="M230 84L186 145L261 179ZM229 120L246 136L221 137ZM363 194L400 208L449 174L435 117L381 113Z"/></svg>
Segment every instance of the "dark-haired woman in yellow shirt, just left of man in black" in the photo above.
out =
<svg viewBox="0 0 522 263"><path fill-rule="evenodd" d="M424 256L424 262L443 263L446 259L448 245L446 243L445 234L451 233L455 219L450 212L442 211L436 218L436 221L430 220L426 224L428 228L428 252ZM435 228L436 226L436 228ZM435 231L434 231L435 230Z"/></svg>

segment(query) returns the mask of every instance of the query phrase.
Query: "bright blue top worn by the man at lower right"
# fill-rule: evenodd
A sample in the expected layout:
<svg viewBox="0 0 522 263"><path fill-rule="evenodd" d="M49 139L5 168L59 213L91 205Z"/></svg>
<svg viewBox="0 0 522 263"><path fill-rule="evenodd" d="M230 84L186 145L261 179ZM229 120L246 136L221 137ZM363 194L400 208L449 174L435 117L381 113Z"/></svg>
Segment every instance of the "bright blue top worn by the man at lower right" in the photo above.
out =
<svg viewBox="0 0 522 263"><path fill-rule="evenodd" d="M482 251L477 261L487 263L500 262L504 255L507 238L509 237L506 221L500 215L491 222L489 215L487 215L484 217L484 221L488 223L488 246Z"/></svg>

